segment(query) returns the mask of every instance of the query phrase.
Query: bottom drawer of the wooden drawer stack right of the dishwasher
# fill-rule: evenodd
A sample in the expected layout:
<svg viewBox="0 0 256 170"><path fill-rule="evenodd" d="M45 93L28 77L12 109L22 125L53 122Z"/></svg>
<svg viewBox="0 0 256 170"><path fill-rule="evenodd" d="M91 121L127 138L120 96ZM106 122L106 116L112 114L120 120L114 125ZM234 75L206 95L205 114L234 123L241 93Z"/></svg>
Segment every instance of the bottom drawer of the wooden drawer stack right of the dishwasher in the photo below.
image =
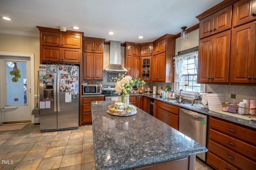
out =
<svg viewBox="0 0 256 170"><path fill-rule="evenodd" d="M211 152L207 153L206 163L214 166L216 169L219 170L238 170L237 168L220 159L218 156L215 156Z"/></svg>

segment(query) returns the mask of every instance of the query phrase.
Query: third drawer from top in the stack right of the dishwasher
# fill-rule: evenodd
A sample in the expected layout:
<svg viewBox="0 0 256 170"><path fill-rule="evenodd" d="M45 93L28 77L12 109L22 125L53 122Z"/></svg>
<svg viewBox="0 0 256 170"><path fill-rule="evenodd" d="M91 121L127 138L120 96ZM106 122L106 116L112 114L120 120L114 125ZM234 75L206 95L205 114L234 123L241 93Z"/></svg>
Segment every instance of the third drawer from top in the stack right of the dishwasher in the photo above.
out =
<svg viewBox="0 0 256 170"><path fill-rule="evenodd" d="M226 149L221 145L218 145L214 141L209 140L208 150L216 155L218 155L224 161L229 162L238 168L254 170L256 167L256 162L249 160L248 158L233 152L232 150Z"/></svg>

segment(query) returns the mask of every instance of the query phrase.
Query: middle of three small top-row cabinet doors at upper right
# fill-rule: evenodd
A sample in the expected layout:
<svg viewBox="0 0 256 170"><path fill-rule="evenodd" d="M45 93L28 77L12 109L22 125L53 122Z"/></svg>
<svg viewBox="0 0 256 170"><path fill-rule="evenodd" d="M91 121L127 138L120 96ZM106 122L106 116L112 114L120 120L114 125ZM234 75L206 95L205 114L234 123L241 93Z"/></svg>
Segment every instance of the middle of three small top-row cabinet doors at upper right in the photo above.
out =
<svg viewBox="0 0 256 170"><path fill-rule="evenodd" d="M213 33L219 33L231 28L232 5L214 14Z"/></svg>

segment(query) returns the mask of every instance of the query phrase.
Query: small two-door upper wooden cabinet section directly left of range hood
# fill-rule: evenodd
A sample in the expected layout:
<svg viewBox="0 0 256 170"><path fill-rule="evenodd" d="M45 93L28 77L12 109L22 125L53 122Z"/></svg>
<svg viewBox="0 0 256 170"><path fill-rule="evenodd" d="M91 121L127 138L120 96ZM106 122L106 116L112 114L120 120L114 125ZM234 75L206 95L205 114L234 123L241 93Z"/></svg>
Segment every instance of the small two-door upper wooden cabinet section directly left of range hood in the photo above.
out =
<svg viewBox="0 0 256 170"><path fill-rule="evenodd" d="M84 52L88 53L104 53L103 45L105 39L84 37Z"/></svg>

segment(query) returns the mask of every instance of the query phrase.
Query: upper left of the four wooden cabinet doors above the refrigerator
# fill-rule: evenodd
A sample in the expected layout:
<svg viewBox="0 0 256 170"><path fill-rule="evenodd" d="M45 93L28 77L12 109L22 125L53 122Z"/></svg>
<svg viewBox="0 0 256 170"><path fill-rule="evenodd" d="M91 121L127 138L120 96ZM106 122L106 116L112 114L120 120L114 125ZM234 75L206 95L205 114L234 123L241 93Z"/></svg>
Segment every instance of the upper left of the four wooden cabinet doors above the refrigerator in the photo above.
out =
<svg viewBox="0 0 256 170"><path fill-rule="evenodd" d="M60 47L61 46L61 34L52 33L47 31L41 31L41 45Z"/></svg>

